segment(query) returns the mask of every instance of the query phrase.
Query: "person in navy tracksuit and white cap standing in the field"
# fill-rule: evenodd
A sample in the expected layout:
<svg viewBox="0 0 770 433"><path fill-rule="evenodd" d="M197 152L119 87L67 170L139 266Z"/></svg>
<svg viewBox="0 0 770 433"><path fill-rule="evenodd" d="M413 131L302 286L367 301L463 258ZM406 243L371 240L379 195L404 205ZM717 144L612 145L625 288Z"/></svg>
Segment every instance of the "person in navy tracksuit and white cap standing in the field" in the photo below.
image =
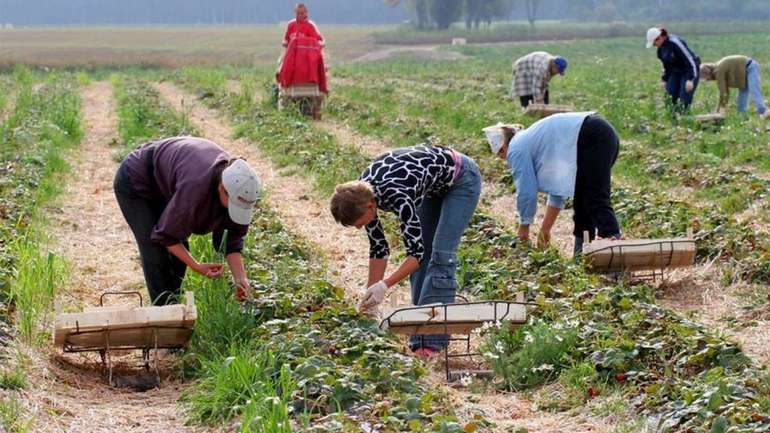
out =
<svg viewBox="0 0 770 433"><path fill-rule="evenodd" d="M647 48L658 47L658 59L663 63L660 85L671 96L677 112L687 112L695 96L700 78L700 58L676 35L664 28L647 30Z"/></svg>

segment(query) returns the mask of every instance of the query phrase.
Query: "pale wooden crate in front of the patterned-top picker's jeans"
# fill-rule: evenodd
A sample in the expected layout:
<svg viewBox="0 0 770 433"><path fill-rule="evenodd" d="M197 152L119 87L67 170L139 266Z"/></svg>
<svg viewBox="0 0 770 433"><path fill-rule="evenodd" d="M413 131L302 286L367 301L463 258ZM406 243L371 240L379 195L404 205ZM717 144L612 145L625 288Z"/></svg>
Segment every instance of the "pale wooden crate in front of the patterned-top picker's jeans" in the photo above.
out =
<svg viewBox="0 0 770 433"><path fill-rule="evenodd" d="M506 301L403 306L388 310L380 329L396 334L469 334L485 323L526 323L524 303Z"/></svg>

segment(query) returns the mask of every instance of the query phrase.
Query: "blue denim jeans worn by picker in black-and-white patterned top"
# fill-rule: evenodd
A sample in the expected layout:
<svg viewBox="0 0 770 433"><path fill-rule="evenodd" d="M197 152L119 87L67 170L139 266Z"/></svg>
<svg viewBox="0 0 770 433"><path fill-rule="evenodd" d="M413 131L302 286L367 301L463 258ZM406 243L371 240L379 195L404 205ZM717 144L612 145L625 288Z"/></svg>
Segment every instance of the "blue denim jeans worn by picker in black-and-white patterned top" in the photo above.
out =
<svg viewBox="0 0 770 433"><path fill-rule="evenodd" d="M470 224L481 195L481 173L476 162L462 155L460 176L443 197L426 198L418 210L425 256L409 280L412 304L450 303L457 292L457 248ZM414 335L409 347L442 350L448 335Z"/></svg>

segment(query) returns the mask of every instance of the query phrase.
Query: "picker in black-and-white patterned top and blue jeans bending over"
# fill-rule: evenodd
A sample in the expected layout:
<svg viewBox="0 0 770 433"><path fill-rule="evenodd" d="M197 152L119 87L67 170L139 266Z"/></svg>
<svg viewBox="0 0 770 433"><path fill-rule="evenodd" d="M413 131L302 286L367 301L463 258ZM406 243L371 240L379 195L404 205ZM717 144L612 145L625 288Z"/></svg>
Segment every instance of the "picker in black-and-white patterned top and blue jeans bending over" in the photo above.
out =
<svg viewBox="0 0 770 433"><path fill-rule="evenodd" d="M331 213L344 226L366 227L369 279L359 310L377 314L389 287L406 277L412 304L454 302L457 248L481 193L481 174L471 158L441 146L396 149L377 157L357 181L337 185ZM390 249L379 210L401 223L406 260L385 277ZM410 348L430 357L446 347L448 336L413 336Z"/></svg>

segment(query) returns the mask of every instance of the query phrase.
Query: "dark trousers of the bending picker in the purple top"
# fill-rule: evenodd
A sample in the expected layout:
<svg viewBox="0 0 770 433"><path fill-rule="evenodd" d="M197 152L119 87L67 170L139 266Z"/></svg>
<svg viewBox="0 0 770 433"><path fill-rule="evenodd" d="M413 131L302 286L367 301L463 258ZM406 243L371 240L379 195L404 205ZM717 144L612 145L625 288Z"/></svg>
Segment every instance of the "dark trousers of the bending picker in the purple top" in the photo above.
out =
<svg viewBox="0 0 770 433"><path fill-rule="evenodd" d="M152 229L166 207L165 203L137 196L124 164L121 164L115 175L113 188L123 217L136 238L144 280L153 305L176 302L187 266L166 247L150 239ZM183 244L189 249L187 241Z"/></svg>

